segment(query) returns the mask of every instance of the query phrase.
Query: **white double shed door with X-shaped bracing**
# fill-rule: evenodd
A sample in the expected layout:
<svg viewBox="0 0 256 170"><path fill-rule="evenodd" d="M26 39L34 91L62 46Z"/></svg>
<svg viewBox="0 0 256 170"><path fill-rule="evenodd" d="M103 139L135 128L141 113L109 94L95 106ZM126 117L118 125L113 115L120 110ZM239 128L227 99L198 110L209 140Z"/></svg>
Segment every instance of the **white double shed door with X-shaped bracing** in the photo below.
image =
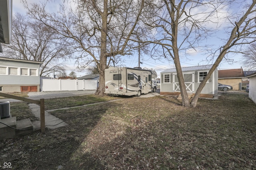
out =
<svg viewBox="0 0 256 170"><path fill-rule="evenodd" d="M194 72L183 73L183 77L184 77L184 82L186 86L186 91L190 93L194 93L194 88L195 88ZM180 85L179 85L178 76L176 73L174 73L174 76L173 76L173 91L180 92Z"/></svg>

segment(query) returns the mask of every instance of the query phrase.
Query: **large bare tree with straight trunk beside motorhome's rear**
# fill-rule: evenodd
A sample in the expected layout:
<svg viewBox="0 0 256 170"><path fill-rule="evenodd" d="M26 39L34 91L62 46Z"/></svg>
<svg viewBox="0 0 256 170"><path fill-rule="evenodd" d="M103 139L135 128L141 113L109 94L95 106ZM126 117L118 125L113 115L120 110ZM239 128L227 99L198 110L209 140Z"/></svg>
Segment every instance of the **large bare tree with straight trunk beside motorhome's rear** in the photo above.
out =
<svg viewBox="0 0 256 170"><path fill-rule="evenodd" d="M96 93L103 95L105 68L118 57L132 54L137 43L129 41L131 37L147 34L136 32L141 14L148 12L144 10L144 0L77 0L75 10L67 11L62 5L58 14L46 11L48 2L32 4L31 8L25 5L31 16L72 41L84 66L96 63L100 73Z"/></svg>

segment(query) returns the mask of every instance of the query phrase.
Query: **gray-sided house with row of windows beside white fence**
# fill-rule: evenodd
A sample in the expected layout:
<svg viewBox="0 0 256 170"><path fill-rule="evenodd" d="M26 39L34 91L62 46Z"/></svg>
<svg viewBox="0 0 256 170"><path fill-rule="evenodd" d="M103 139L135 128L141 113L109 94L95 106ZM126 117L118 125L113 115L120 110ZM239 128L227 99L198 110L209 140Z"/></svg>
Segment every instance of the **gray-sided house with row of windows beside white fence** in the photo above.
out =
<svg viewBox="0 0 256 170"><path fill-rule="evenodd" d="M41 64L0 57L0 92L39 92Z"/></svg>

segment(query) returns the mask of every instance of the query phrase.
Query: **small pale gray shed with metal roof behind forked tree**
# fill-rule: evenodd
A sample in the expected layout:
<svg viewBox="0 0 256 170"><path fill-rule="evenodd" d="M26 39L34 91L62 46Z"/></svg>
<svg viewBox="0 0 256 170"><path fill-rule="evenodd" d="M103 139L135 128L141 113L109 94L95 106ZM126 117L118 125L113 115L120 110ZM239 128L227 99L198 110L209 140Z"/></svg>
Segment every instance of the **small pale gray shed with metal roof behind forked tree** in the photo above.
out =
<svg viewBox="0 0 256 170"><path fill-rule="evenodd" d="M202 80L208 74L212 65L183 67L183 77L188 93L195 93ZM179 95L180 86L176 68L166 69L161 74L160 94ZM200 97L213 98L218 94L218 70L214 70L210 79L204 86Z"/></svg>

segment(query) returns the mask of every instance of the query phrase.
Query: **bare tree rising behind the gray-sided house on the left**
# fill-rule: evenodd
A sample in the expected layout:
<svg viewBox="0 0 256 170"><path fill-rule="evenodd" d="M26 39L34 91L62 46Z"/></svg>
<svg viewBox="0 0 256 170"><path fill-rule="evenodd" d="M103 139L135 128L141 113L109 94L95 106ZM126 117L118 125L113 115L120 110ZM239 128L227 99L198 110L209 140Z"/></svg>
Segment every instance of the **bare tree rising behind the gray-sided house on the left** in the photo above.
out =
<svg viewBox="0 0 256 170"><path fill-rule="evenodd" d="M39 21L17 13L12 19L12 43L3 45L4 57L44 62L40 76L61 71L64 67L58 61L66 59L72 51L67 42Z"/></svg>

